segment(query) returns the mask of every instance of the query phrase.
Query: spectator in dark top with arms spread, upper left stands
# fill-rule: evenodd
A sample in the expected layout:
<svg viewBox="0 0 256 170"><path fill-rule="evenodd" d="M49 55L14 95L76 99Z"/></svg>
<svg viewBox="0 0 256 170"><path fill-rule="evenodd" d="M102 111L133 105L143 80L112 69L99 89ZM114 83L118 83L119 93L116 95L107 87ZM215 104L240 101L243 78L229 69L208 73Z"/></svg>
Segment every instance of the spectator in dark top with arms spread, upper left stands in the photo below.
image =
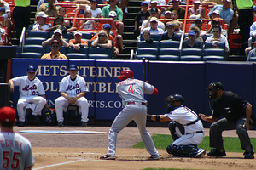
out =
<svg viewBox="0 0 256 170"><path fill-rule="evenodd" d="M47 29L46 31L53 31L55 29L60 29L62 31L62 33L66 33L67 31L76 31L77 27L65 26L63 16L59 15L54 20L53 26L50 27L49 29Z"/></svg>

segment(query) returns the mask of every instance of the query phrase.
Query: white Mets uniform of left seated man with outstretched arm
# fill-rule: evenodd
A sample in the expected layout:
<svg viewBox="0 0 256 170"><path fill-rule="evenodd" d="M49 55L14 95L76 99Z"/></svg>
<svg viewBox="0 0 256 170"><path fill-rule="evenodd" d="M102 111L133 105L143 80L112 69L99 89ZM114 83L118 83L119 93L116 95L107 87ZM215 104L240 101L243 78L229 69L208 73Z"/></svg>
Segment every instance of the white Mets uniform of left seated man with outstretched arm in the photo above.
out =
<svg viewBox="0 0 256 170"><path fill-rule="evenodd" d="M17 104L17 111L19 115L19 121L25 122L26 109L32 109L32 115L41 115L41 110L46 104L46 99L41 95L44 95L44 87L42 82L35 77L32 81L27 76L12 78L14 85L19 86L20 99Z"/></svg>

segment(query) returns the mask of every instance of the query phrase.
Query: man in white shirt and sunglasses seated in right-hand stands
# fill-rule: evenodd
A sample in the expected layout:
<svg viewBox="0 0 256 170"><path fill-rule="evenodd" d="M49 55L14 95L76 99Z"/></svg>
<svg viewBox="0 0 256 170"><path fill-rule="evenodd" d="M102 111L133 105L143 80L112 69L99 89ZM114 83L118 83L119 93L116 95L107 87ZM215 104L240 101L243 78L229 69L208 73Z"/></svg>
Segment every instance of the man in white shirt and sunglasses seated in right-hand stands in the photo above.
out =
<svg viewBox="0 0 256 170"><path fill-rule="evenodd" d="M219 42L224 42L225 43L225 51L229 51L229 42L227 41L227 38L224 37L221 34L221 27L220 26L215 26L213 27L213 36L207 37L205 42L212 42L212 41L219 41Z"/></svg>

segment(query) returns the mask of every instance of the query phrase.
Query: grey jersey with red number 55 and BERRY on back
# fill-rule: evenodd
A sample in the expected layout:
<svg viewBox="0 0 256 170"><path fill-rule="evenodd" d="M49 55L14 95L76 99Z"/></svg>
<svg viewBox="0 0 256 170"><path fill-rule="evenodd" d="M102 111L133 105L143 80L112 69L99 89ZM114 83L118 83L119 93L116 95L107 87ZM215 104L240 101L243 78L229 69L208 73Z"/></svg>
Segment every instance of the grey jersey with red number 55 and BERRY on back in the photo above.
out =
<svg viewBox="0 0 256 170"><path fill-rule="evenodd" d="M31 144L19 133L0 133L0 169L24 170L35 163Z"/></svg>

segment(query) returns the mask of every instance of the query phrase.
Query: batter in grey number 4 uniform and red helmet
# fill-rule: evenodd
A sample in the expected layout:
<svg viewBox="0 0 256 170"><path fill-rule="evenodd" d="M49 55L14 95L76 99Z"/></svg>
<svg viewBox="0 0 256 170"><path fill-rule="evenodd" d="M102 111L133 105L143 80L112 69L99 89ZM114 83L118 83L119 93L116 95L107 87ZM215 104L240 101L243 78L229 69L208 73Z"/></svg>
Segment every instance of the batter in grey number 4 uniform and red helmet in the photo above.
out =
<svg viewBox="0 0 256 170"><path fill-rule="evenodd" d="M159 153L155 149L153 140L146 129L147 100L144 99L144 93L158 94L158 90L146 82L134 79L131 70L121 71L119 80L122 82L119 82L117 90L125 108L115 117L110 127L108 153L105 156L101 156L100 159L114 160L116 158L117 135L132 120L136 122L143 144L151 155L148 159L159 159Z"/></svg>

